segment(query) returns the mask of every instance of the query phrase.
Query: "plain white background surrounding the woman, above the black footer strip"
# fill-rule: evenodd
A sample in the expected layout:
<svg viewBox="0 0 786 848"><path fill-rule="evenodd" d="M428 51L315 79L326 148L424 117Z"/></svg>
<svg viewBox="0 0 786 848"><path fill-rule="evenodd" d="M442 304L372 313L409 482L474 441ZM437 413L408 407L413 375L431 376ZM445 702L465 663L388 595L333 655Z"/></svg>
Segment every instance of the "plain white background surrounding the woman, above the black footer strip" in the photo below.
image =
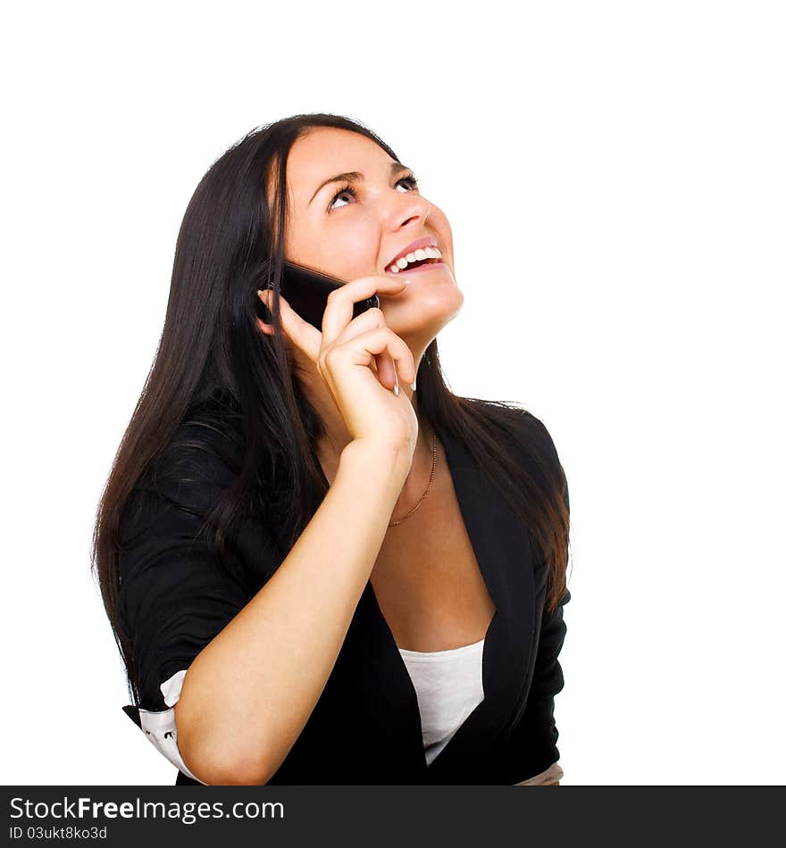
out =
<svg viewBox="0 0 786 848"><path fill-rule="evenodd" d="M566 470L564 785L782 783L782 4L273 5L4 12L3 782L174 782L121 711L96 506L197 182L337 112L451 222L451 387Z"/></svg>

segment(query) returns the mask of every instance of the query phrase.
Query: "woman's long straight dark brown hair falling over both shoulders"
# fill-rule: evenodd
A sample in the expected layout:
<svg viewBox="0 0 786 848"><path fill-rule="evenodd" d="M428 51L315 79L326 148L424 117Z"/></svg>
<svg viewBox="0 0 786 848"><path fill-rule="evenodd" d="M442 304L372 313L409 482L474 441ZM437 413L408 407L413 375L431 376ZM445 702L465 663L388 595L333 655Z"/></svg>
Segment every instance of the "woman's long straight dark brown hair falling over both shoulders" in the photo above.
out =
<svg viewBox="0 0 786 848"><path fill-rule="evenodd" d="M121 514L179 425L212 410L213 426L238 434L237 478L214 516L211 541L222 562L226 532L249 503L258 500L267 520L284 522L294 545L327 491L313 451L322 422L293 379L281 334L266 335L256 323L256 290L280 291L288 153L317 127L360 133L398 159L357 121L294 115L253 129L213 162L183 216L161 339L98 504L91 551L135 703L133 650L118 614ZM272 307L272 323L280 328L277 294ZM521 418L529 413L512 403L454 395L436 338L422 357L417 392L418 414L438 434L464 443L530 528L548 567L547 608L553 611L566 588L569 511L564 472L545 428L530 416L533 437L522 445L529 461L512 467L508 440L521 434ZM262 486L265 497L258 498Z"/></svg>

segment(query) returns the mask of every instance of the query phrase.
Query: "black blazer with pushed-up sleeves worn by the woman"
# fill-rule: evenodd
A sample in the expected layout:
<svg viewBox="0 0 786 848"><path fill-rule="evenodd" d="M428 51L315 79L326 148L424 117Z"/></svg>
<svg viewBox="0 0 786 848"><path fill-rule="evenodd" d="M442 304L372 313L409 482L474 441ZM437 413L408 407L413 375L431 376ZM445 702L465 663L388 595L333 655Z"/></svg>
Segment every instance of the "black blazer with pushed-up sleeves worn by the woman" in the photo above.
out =
<svg viewBox="0 0 786 848"><path fill-rule="evenodd" d="M519 420L521 438L539 446L563 474L544 425L530 413ZM369 580L327 685L271 785L512 785L559 759L554 696L564 686L557 657L570 593L554 613L544 612L547 569L537 561L529 529L464 445L449 434L442 442L497 607L482 658L484 700L427 765L414 686ZM274 529L248 522L232 538L245 586L219 575L193 536L197 517L213 504L209 481L227 471L196 453L180 453L174 462L180 475L184 463L202 485L168 488L164 473L155 490L139 494L138 518L123 520L128 544L121 556L121 620L140 661L139 706L156 715L167 710L158 688L163 680L188 669L287 553ZM141 727L137 706L123 710ZM176 783L197 785L182 771Z"/></svg>

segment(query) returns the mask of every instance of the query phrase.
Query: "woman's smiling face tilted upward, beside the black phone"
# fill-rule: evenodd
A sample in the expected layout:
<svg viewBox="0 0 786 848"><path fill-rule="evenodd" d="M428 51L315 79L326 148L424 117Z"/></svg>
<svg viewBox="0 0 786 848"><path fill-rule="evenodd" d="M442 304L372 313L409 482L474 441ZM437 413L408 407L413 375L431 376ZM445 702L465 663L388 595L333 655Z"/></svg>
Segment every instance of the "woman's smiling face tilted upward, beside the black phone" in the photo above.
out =
<svg viewBox="0 0 786 848"><path fill-rule="evenodd" d="M287 161L284 254L347 281L393 277L391 262L416 239L431 237L442 262L409 274L399 270L411 281L406 291L379 295L389 328L417 355L456 316L464 295L456 286L445 214L421 195L410 170L391 170L394 164L371 138L347 129L321 127L298 138ZM358 172L355 179L331 179L348 171Z"/></svg>

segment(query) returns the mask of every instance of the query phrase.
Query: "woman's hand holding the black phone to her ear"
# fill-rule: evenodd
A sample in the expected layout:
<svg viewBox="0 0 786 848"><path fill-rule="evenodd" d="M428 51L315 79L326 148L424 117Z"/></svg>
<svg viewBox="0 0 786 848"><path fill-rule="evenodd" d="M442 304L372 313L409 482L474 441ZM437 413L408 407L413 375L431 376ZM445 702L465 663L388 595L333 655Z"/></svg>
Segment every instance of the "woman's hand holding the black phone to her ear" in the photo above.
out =
<svg viewBox="0 0 786 848"><path fill-rule="evenodd" d="M417 441L417 416L406 393L395 395L391 388L397 379L393 362L401 382L414 382L412 352L388 327L380 309L372 308L352 318L358 301L377 292L395 296L404 291L403 280L384 275L352 280L328 295L322 332L301 318L283 296L280 312L284 333L314 363L351 438L408 452L411 461ZM259 296L272 311L272 291L267 289ZM272 332L271 325L260 319L257 322L263 332Z"/></svg>

